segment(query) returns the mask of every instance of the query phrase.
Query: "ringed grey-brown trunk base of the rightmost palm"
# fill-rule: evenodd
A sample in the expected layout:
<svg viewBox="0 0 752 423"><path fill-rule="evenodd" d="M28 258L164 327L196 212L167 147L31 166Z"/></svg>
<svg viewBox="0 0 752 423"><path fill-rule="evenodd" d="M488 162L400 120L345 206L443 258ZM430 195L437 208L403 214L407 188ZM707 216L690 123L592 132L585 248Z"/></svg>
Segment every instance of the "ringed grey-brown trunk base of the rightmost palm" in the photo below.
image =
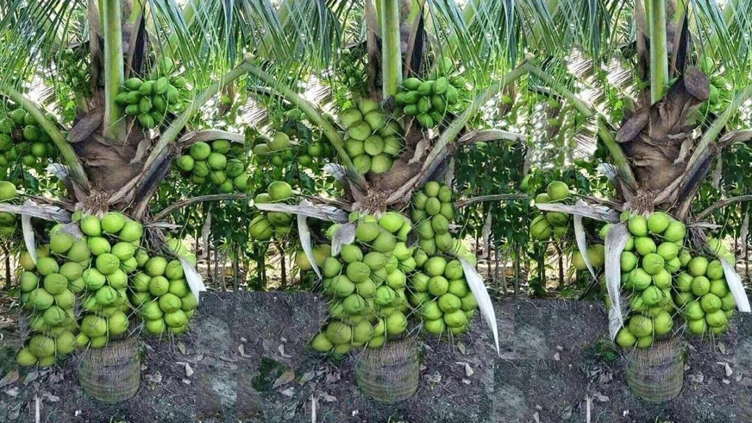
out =
<svg viewBox="0 0 752 423"><path fill-rule="evenodd" d="M681 344L675 338L638 349L626 363L626 384L632 394L650 403L678 397L684 385Z"/></svg>

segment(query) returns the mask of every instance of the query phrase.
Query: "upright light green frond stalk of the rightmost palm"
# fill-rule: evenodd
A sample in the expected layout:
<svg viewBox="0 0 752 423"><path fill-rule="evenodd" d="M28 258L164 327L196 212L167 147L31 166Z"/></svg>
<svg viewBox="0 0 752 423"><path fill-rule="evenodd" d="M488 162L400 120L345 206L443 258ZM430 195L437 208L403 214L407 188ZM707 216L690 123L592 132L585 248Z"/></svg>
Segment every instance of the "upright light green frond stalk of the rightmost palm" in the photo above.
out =
<svg viewBox="0 0 752 423"><path fill-rule="evenodd" d="M656 104L666 95L669 83L669 54L666 50L666 0L647 0L650 22L650 101Z"/></svg>

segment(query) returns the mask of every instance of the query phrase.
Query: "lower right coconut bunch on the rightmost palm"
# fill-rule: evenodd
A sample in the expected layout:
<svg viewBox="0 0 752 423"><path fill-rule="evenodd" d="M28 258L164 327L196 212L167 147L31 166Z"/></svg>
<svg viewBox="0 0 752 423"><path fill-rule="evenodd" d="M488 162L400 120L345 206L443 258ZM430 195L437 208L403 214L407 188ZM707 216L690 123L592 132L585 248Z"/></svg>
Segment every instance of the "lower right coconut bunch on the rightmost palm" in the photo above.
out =
<svg viewBox="0 0 752 423"><path fill-rule="evenodd" d="M719 258L729 264L735 263L735 258L726 246L715 238L708 239L708 246ZM675 303L681 307L681 312L687 318L687 328L690 333L703 335L711 332L714 335L725 334L728 323L734 315L736 300L729 291L723 266L717 258L703 255L689 258L676 278Z"/></svg>

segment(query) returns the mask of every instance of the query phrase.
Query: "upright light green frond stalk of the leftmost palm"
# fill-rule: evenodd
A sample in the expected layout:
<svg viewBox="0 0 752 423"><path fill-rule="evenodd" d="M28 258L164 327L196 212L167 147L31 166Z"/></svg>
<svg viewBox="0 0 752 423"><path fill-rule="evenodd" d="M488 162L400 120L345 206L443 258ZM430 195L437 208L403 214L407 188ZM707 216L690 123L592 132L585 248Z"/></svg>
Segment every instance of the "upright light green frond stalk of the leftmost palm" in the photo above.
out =
<svg viewBox="0 0 752 423"><path fill-rule="evenodd" d="M105 40L105 137L123 140L126 122L115 97L123 85L123 17L120 0L102 2L102 38Z"/></svg>

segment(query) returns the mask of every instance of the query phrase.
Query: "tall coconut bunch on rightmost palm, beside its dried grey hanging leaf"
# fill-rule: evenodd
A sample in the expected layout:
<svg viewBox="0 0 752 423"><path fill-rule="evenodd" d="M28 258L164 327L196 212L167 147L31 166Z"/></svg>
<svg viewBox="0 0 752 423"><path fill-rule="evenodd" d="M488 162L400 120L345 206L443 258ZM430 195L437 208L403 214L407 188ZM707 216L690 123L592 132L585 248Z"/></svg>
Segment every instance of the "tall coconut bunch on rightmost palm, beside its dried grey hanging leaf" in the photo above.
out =
<svg viewBox="0 0 752 423"><path fill-rule="evenodd" d="M625 212L622 220L626 220L630 233L620 256L621 286L629 301L629 316L615 341L625 349L644 349L674 328L675 275L690 258L684 249L687 228L662 211L648 216ZM611 226L602 228L602 238Z"/></svg>

